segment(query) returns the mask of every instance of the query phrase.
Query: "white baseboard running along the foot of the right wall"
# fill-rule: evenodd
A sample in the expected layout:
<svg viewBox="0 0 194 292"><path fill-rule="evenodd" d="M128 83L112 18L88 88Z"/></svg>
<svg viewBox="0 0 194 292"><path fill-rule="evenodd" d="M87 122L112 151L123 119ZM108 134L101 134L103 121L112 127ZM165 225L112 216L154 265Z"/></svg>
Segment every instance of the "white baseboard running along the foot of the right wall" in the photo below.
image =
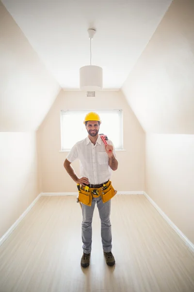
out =
<svg viewBox="0 0 194 292"><path fill-rule="evenodd" d="M163 219L174 229L178 236L185 242L185 244L194 252L194 244L178 229L178 227L168 218L168 216L161 210L161 208L153 201L146 192L144 196L150 203L156 208L156 210L162 215Z"/></svg>

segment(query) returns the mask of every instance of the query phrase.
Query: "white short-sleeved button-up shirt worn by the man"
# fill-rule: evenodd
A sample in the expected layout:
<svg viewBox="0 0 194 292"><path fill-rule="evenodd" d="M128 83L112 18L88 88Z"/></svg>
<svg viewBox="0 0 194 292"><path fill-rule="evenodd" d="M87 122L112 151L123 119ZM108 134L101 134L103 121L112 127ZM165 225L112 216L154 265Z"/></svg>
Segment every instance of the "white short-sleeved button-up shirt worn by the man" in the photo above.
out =
<svg viewBox="0 0 194 292"><path fill-rule="evenodd" d="M111 140L107 140L107 144L113 146ZM113 155L116 158L114 146ZM77 142L67 154L66 159L71 163L80 159L80 175L88 178L91 184L105 183L111 178L112 169L109 166L109 157L100 135L98 135L95 145L89 137Z"/></svg>

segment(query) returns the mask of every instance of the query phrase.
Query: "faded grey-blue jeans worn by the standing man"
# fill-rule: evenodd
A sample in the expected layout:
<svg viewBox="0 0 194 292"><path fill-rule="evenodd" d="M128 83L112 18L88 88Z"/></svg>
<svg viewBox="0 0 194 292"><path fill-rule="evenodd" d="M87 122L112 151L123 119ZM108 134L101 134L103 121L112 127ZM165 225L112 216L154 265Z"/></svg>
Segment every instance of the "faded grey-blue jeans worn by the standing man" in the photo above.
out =
<svg viewBox="0 0 194 292"><path fill-rule="evenodd" d="M95 204L97 202L97 208L99 211L99 217L101 220L101 238L103 251L106 253L112 250L112 233L111 233L111 200L103 203L101 197L93 198L92 205L82 205L82 242L83 252L85 254L91 253L92 249L92 218L94 213Z"/></svg>

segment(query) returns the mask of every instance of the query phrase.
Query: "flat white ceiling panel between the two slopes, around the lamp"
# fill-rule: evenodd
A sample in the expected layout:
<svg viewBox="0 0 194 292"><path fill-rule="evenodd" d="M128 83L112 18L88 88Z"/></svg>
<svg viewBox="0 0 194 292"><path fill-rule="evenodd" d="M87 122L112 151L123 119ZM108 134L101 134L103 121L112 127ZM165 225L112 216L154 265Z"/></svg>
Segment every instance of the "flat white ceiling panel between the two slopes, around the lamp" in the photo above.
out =
<svg viewBox="0 0 194 292"><path fill-rule="evenodd" d="M89 65L87 29L95 27L93 65L103 67L103 87L121 88L171 0L2 0L59 84L79 88Z"/></svg>

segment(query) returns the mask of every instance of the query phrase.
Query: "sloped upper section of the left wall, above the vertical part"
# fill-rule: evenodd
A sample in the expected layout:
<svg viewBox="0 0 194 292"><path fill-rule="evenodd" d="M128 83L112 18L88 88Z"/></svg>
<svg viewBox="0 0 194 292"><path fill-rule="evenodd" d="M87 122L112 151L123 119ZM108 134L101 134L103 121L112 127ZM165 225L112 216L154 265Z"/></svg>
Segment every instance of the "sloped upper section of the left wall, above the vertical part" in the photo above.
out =
<svg viewBox="0 0 194 292"><path fill-rule="evenodd" d="M0 131L34 131L60 86L0 2Z"/></svg>

